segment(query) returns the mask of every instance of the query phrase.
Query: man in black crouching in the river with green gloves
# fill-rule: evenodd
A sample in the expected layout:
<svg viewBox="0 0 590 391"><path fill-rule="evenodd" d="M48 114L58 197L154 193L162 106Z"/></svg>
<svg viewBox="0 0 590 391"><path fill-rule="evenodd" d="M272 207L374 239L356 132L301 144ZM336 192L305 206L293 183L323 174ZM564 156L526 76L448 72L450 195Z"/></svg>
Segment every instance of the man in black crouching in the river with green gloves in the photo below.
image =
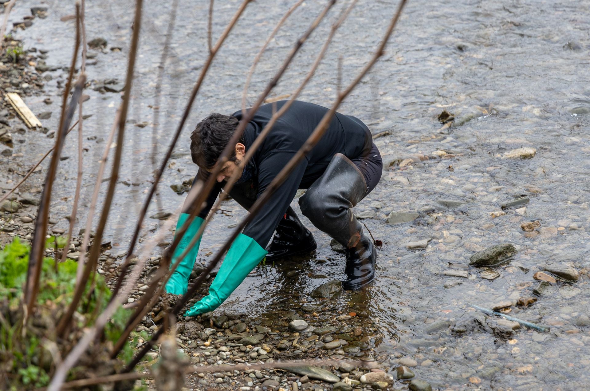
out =
<svg viewBox="0 0 590 391"><path fill-rule="evenodd" d="M226 180L235 170L239 170L238 165L254 139L273 113L285 103L282 101L260 106L248 122L240 142L234 146L230 161L225 162L217 175L217 183L207 198L207 206L193 220L176 248L172 264L198 231ZM230 196L249 210L297 153L327 111L325 107L312 103L293 102L239 173L240 179L230 191ZM241 118L241 110L230 116L211 114L196 125L191 135L192 160L199 166L195 180L207 180ZM301 213L317 229L345 247L346 277L342 281L343 288L360 289L369 284L375 278L376 251L351 208L375 188L381 179L382 169L381 155L373 144L367 126L353 116L336 113L320 142L234 240L209 287L209 294L189 309L186 315L195 316L219 307L265 256L268 262L272 262L316 249L312 233L303 226L289 206L298 189L307 189L299 198ZM177 229L188 219L192 207L185 202L185 213L179 217ZM268 244L271 237L273 240ZM177 295L186 293L198 249L198 245L194 246L181 260L166 284L166 292Z"/></svg>

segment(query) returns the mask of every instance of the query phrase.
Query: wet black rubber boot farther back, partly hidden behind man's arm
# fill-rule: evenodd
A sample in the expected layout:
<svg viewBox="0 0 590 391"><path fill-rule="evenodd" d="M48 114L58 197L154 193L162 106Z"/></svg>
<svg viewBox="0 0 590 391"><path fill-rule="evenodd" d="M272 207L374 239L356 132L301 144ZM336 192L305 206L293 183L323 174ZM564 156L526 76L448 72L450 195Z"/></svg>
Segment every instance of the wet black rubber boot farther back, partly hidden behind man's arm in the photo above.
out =
<svg viewBox="0 0 590 391"><path fill-rule="evenodd" d="M303 226L293 208L289 207L278 223L273 241L266 248L266 260L274 262L286 256L306 254L316 248L312 233Z"/></svg>

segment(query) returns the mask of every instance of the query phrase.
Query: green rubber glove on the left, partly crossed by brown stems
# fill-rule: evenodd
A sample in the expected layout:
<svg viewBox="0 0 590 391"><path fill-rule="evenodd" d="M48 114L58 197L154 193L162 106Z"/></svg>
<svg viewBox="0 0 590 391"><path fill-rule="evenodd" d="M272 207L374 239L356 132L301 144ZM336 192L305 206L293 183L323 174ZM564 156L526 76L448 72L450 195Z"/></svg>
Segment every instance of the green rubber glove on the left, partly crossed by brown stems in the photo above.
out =
<svg viewBox="0 0 590 391"><path fill-rule="evenodd" d="M178 223L176 223L176 232L178 232L182 226L185 224L186 220L191 217L188 213L181 213L178 217ZM188 247L189 243L191 243L192 238L198 232L199 227L203 223L203 219L201 217L195 217L192 220L191 225L188 226L184 236L172 255L172 262L170 263L170 267L174 265L176 260L179 256L182 255L186 247ZM185 258L181 260L179 263L178 268L172 273L168 282L166 282L166 292L173 295L183 295L186 293L186 289L188 288L188 278L191 276L192 266L195 265L196 253L199 252L199 245L201 245L201 238L196 242L196 244L192 247L191 251L186 254Z"/></svg>

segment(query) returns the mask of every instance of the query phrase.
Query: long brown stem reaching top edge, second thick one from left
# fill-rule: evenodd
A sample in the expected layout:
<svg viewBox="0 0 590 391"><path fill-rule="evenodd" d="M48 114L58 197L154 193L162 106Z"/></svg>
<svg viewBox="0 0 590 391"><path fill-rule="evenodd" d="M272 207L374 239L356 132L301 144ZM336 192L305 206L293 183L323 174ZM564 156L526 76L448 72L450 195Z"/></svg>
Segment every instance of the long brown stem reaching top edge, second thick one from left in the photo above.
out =
<svg viewBox="0 0 590 391"><path fill-rule="evenodd" d="M94 269L94 266L96 265L96 262L99 259L103 232L104 228L106 227L107 219L109 217L109 211L114 196L114 188L116 187L117 180L119 179L119 168L121 165L121 155L123 152L125 134L125 122L127 119L127 110L129 109L129 100L133 85L133 71L135 70L137 47L139 45L139 30L141 26L142 5L143 0L136 0L135 18L133 19L132 29L133 34L131 40L131 47L129 50L129 63L127 64L127 75L125 79L125 91L123 93L123 102L121 105L121 111L119 113L119 132L117 133L117 146L114 151L113 168L111 171L109 187L107 188L107 194L104 197L103 211L100 215L100 220L96 229L96 234L94 235L94 240L92 246L90 247L90 255L88 257L88 262L86 264L86 267L84 268L84 272L82 273L80 284L76 285L76 291L74 291L73 299L70 305L68 306L67 311L61 317L60 321L57 324L56 332L57 335L60 336L64 335L66 326L69 324L71 316L74 314L74 311L76 311L76 308L78 307L78 304L84 292L84 288L86 287L86 280L89 278L91 270Z"/></svg>

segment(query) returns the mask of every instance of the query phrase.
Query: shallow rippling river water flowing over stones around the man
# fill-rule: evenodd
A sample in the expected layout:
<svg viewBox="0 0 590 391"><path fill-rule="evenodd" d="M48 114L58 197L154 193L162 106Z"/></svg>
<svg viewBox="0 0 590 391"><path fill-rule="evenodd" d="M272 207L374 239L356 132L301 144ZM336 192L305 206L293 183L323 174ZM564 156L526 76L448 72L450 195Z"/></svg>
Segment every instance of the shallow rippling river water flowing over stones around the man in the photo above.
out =
<svg viewBox="0 0 590 391"><path fill-rule="evenodd" d="M35 19L32 27L15 34L24 40L25 48L48 50L50 67L65 67L70 61L74 24L60 18L73 14L74 8L65 3L45 1L48 17ZM182 0L178 8L162 87L158 161L206 57L208 4ZM238 4L216 2L214 40ZM252 2L218 53L159 187L163 211L175 211L186 196L178 196L170 185L196 173L188 152L194 125L210 112L240 108L251 61L292 4ZM29 15L30 6L35 5L18 1L11 21ZM126 250L133 216L154 170L154 89L171 9L163 5L148 2L145 7L123 171L107 231L113 253ZM337 2L271 96L290 93L299 85L345 5ZM249 104L323 6L320 1L304 2L278 32L254 73ZM342 56L346 85L370 58L395 8L392 1L360 1L300 99L331 105L337 89L337 58ZM102 37L108 44L103 51L91 51L96 57L89 60L87 69L91 87L84 113L93 116L84 122L84 165L89 174L84 176L82 216L87 213L94 173L120 102L117 93L93 88L105 79L124 78L132 17L133 2L128 0L87 1L87 37ZM390 133L376 139L386 164L383 179L355 208L375 239L384 243L378 252L378 276L364 291L341 292L330 304L343 313L356 312L366 330L373 329L370 354L385 366L395 367L395 359L412 357L418 363L417 376L440 389L582 390L590 386L588 31L588 2L409 1L385 55L340 107L340 112L362 119L374 134ZM54 129L60 105L56 83L63 83L67 74L61 69L48 73L53 80L47 82L46 95L30 97L27 104L35 113L52 111L43 122ZM43 103L48 96L53 105ZM455 126L443 128L438 122L443 110L455 115ZM135 126L142 122L147 126ZM53 139L42 133L27 132L21 137L26 142L17 144L14 152L24 154L18 164L25 168L53 145ZM504 157L523 147L535 148L535 157ZM70 159L60 164L53 216L65 228L63 216L71 208L76 181L74 133L64 155ZM38 187L41 181L42 175L34 174L23 190ZM530 198L529 203L492 217L491 213L501 211L501 204L521 194ZM230 232L227 228L245 216L233 201L223 208L225 212L205 232L201 262L212 258ZM148 216L158 211L153 203ZM418 212L419 216L409 223L387 224L392 211ZM521 224L536 220L540 227L535 231L521 229ZM323 282L342 278L343 256L332 250L329 237L303 221L316 237L317 252L258 268L221 309L273 322L303 303L316 304L310 292ZM159 224L159 220L146 220L145 243ZM167 240L171 239L169 234ZM406 246L423 239L430 239L425 249ZM493 268L500 276L489 281L482 278L483 269L468 266L469 257L498 243L512 243L518 252ZM533 274L549 263L569 263L581 275L575 283L558 281L537 296ZM467 278L446 276L449 270L467 271ZM518 307L521 297L537 301ZM503 301L512 302L509 315L548 325L550 332L507 330L470 307L491 308ZM316 323L329 321L320 314Z"/></svg>

